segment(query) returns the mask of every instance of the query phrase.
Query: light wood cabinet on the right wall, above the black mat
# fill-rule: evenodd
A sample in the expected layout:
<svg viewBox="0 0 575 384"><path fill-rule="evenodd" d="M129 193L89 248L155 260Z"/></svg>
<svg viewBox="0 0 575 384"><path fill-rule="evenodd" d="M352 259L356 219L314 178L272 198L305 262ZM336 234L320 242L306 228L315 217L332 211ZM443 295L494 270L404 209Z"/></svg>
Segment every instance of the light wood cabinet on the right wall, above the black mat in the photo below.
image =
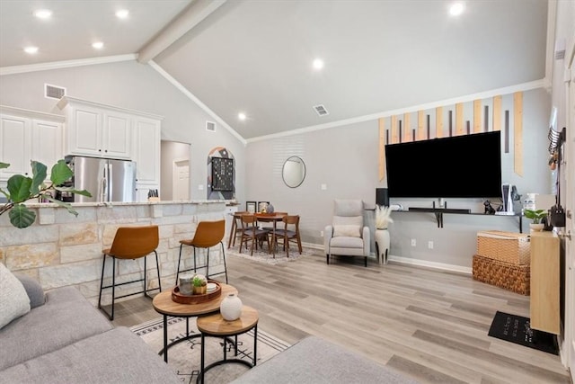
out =
<svg viewBox="0 0 575 384"><path fill-rule="evenodd" d="M531 327L560 332L559 237L553 232L531 232Z"/></svg>

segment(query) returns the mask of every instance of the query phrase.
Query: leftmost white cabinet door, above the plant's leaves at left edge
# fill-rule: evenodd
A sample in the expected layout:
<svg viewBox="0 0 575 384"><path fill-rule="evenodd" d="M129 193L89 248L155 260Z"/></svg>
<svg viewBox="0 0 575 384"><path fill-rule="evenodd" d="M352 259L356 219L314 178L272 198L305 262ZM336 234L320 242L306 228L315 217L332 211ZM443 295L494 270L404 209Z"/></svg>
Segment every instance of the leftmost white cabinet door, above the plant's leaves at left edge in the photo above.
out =
<svg viewBox="0 0 575 384"><path fill-rule="evenodd" d="M8 168L0 169L0 180L13 174L31 175L31 120L0 114L0 161Z"/></svg>

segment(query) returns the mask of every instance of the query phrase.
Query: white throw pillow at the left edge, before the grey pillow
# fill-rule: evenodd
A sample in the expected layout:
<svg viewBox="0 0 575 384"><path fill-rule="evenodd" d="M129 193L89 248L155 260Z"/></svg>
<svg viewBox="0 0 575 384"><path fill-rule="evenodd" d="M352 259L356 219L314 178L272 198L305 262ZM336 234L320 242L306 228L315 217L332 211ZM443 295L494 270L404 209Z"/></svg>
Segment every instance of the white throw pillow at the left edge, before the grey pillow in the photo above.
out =
<svg viewBox="0 0 575 384"><path fill-rule="evenodd" d="M30 298L16 276L0 263L0 328L30 312Z"/></svg>

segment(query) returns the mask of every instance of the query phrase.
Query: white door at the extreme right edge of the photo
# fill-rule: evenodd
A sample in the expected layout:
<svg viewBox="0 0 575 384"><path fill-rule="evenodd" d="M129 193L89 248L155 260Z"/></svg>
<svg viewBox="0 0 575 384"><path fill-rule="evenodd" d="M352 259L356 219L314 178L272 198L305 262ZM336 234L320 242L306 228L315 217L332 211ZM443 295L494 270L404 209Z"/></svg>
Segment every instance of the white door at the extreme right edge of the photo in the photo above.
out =
<svg viewBox="0 0 575 384"><path fill-rule="evenodd" d="M574 47L575 49L575 47ZM571 380L575 382L575 62L571 57L571 82L567 83L567 138L562 171L566 177L565 211L565 344ZM568 170L570 169L570 170ZM571 235L571 236L570 236Z"/></svg>

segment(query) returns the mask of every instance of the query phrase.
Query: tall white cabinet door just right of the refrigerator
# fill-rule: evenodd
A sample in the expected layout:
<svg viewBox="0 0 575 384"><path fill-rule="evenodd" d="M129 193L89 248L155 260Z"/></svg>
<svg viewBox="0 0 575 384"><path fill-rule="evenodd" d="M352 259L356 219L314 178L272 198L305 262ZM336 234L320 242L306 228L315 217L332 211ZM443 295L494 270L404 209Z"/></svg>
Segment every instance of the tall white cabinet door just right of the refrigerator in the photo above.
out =
<svg viewBox="0 0 575 384"><path fill-rule="evenodd" d="M136 116L134 119L132 160L136 162L137 183L160 184L160 129L158 118Z"/></svg>

